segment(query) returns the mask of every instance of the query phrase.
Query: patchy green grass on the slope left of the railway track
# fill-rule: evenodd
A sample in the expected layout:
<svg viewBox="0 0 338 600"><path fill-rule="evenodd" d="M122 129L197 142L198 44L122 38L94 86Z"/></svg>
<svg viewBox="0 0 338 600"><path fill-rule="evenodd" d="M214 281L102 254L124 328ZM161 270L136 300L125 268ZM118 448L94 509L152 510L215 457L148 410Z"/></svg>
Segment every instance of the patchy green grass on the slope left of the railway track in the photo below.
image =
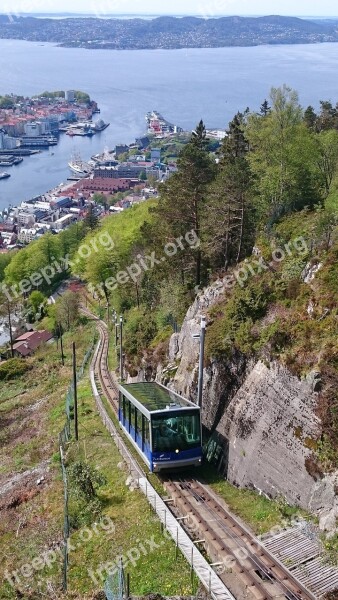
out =
<svg viewBox="0 0 338 600"><path fill-rule="evenodd" d="M92 326L77 330L79 362L91 338ZM1 387L0 418L5 425L2 430L5 445L1 450L1 477L5 480L46 459L51 460L50 471L45 473L46 482L38 488L40 493L34 497L25 497L25 501L16 508L1 511L0 544L5 555L5 561L0 565L1 581L6 569L10 572L20 569L42 552L55 549L62 539L63 484L57 439L64 424L64 393L71 376L70 342L71 336L68 339L65 336L67 361L64 368L60 368L55 347L51 347L29 359L32 369L28 375ZM13 397L24 390L27 392ZM40 400L43 403L37 405ZM37 411L31 410L30 407L34 405L38 407ZM19 416L24 410L28 410L31 416L29 421L24 422L25 436L21 439ZM98 467L105 474L107 485L100 489L99 495L104 504L104 515L112 520L115 531L109 534L99 525L92 529L93 523L88 523L92 532L88 541L84 541L87 540L88 529L83 525L73 531L71 544L76 549L70 552L69 591L66 597L83 598L86 594L91 597L91 593L100 589L101 584L92 581L88 569L95 571L102 563L127 555L135 546L140 548L140 544L149 548L147 540L151 540L152 536L159 548L153 549L146 556L142 555L134 566L127 565L132 592L190 594L191 581L187 564L180 556L175 560L174 544L163 537L159 523L142 494L129 491L125 486L128 473L117 467L121 462L120 455L95 412L87 378L83 379L79 387L79 420L80 442L78 445L71 445L69 462L86 457L93 467ZM33 479L31 488L36 490L36 477ZM25 490L27 491L26 488L20 490L20 493L25 494ZM73 521L76 510L77 501L71 495L70 512ZM25 597L43 597L47 588L54 591L56 597L62 597L61 562L61 557L58 557L51 568L35 572L31 578L21 576ZM0 584L0 598L15 597L9 584Z"/></svg>

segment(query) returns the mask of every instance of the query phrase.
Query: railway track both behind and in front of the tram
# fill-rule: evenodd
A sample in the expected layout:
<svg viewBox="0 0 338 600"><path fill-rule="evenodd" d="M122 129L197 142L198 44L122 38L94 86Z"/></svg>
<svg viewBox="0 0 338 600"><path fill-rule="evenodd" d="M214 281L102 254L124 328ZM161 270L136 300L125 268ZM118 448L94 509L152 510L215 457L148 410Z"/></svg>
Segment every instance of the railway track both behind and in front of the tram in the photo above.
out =
<svg viewBox="0 0 338 600"><path fill-rule="evenodd" d="M118 388L108 368L109 334L106 324L87 309L96 321L101 344L94 361L94 374L102 394L118 411ZM222 566L218 575L227 584L227 574L235 574L242 588L256 600L317 600L264 545L230 513L208 488L195 478L162 478L174 513L202 540L214 563ZM169 506L168 506L169 508ZM196 543L196 542L195 542ZM248 597L249 597L248 596Z"/></svg>

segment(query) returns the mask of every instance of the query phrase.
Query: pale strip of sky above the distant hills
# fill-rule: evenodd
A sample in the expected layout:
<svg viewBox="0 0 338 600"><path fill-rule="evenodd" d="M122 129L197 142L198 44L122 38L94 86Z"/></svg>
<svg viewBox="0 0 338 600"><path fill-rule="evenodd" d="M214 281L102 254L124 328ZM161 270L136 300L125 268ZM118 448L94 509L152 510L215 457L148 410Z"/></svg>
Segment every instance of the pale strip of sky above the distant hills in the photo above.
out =
<svg viewBox="0 0 338 600"><path fill-rule="evenodd" d="M0 13L337 16L336 0L0 0Z"/></svg>

